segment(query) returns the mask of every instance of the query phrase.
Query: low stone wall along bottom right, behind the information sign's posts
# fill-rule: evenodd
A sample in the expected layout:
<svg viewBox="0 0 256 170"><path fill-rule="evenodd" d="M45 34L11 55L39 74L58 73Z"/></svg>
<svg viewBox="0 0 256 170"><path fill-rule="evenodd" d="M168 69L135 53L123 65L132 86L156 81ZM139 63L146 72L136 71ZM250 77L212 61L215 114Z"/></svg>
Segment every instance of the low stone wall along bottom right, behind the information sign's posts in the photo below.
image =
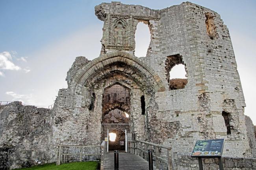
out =
<svg viewBox="0 0 256 170"><path fill-rule="evenodd" d="M175 170L199 170L198 159L192 158L190 155L174 154L174 169ZM254 158L239 158L239 157L222 157L224 170L255 170L256 159ZM204 170L218 170L219 160L202 159Z"/></svg>

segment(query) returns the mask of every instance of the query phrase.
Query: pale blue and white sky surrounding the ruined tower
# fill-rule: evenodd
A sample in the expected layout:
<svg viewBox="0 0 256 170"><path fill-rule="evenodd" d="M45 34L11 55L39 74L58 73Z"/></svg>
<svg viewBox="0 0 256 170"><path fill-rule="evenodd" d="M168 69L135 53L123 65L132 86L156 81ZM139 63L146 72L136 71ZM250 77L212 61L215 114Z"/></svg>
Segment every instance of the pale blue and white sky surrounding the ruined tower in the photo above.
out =
<svg viewBox="0 0 256 170"><path fill-rule="evenodd" d="M256 1L190 0L221 15L228 26L237 69L245 95L245 115L256 125ZM48 106L58 91L67 88L65 78L74 59L89 60L100 54L103 22L94 7L109 0L0 0L0 101ZM181 0L123 0L163 9ZM143 25L143 24L142 24ZM138 28L139 29L139 28ZM137 46L148 46L148 28L141 27ZM137 33L137 32L136 32ZM143 34L145 33L145 35ZM136 56L145 56L135 49ZM140 53L141 52L141 53Z"/></svg>

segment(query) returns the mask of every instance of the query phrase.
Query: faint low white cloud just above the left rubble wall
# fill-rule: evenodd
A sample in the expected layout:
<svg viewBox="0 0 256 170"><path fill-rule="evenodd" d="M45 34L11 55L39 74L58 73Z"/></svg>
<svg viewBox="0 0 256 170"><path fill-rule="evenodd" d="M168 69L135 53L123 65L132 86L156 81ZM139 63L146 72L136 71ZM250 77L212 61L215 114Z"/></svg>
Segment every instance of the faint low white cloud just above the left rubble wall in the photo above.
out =
<svg viewBox="0 0 256 170"><path fill-rule="evenodd" d="M20 95L13 91L6 91L6 94L13 97L12 101L21 101L22 104L35 105L34 96L32 93Z"/></svg>

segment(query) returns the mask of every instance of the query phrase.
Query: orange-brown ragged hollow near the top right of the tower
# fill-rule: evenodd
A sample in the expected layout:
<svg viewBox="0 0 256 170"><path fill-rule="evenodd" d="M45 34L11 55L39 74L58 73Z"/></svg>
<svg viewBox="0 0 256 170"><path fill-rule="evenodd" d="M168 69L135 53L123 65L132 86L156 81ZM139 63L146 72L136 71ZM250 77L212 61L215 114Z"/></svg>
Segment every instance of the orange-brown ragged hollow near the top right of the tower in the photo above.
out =
<svg viewBox="0 0 256 170"><path fill-rule="evenodd" d="M206 20L206 31L211 39L217 37L216 26L214 24L214 15L212 13L205 13Z"/></svg>

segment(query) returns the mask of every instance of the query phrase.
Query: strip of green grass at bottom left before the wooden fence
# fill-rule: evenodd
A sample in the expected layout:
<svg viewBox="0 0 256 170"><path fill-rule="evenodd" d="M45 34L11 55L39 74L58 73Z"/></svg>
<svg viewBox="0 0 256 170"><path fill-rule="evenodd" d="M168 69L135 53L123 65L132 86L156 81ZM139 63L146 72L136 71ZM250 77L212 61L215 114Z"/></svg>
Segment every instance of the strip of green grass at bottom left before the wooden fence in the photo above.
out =
<svg viewBox="0 0 256 170"><path fill-rule="evenodd" d="M56 166L54 164L33 166L30 168L19 168L15 170L96 170L98 167L98 162L76 162L76 163L66 163Z"/></svg>

